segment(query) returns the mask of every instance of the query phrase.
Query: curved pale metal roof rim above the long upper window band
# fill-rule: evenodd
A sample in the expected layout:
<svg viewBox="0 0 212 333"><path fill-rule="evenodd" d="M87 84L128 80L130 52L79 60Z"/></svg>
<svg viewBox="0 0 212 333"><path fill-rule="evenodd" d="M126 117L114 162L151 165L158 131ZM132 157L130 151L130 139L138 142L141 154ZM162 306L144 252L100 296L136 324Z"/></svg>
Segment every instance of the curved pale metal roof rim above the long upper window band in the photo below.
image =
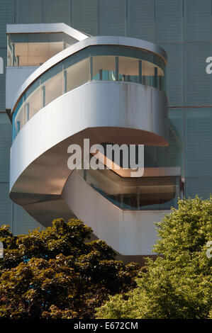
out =
<svg viewBox="0 0 212 333"><path fill-rule="evenodd" d="M67 47L67 49L57 53L57 55L54 55L54 57L51 57L44 64L38 67L38 69L35 69L35 72L33 72L33 74L31 74L28 77L28 79L24 81L21 88L18 89L16 97L14 98L11 106L11 114L13 114L14 108L16 107L16 104L18 103L18 100L21 97L21 95L24 93L24 91L26 91L28 86L32 84L33 81L35 81L35 79L38 79L38 77L40 77L41 74L48 71L48 69L53 67L58 62L61 62L70 55L73 55L74 53L91 45L122 45L128 47L136 47L155 53L156 55L159 55L164 60L164 62L167 62L167 53L164 51L164 49L159 45L147 42L146 40L140 40L138 38L130 38L130 37L118 37L118 36L88 37L85 38L84 40L79 41L78 43L75 43L74 45Z"/></svg>

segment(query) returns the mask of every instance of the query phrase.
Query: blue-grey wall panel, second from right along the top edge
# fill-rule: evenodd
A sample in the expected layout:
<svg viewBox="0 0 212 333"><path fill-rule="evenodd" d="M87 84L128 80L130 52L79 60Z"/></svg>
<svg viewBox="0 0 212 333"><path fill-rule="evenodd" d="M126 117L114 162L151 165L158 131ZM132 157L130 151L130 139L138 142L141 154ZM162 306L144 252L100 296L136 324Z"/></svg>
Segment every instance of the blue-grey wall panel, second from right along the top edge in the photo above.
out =
<svg viewBox="0 0 212 333"><path fill-rule="evenodd" d="M156 42L182 41L182 0L155 1Z"/></svg>

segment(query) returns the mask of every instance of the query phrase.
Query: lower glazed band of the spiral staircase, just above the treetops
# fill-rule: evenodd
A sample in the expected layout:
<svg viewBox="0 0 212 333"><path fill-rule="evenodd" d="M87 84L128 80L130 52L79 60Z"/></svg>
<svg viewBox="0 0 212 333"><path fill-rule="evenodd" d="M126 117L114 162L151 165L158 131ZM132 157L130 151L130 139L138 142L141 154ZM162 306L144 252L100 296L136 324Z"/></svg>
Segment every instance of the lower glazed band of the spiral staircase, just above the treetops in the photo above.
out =
<svg viewBox="0 0 212 333"><path fill-rule="evenodd" d="M106 169L78 169L77 172L101 196L123 210L177 208L179 176L123 178Z"/></svg>

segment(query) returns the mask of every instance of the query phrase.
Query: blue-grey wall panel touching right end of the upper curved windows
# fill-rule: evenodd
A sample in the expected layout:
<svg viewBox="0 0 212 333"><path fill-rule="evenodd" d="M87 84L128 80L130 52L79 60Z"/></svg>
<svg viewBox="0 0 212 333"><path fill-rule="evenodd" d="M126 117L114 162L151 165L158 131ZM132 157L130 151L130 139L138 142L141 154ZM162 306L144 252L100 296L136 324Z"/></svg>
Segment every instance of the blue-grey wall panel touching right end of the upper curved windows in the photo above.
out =
<svg viewBox="0 0 212 333"><path fill-rule="evenodd" d="M167 96L169 106L182 106L183 102L183 47L182 43L160 44L167 52Z"/></svg>

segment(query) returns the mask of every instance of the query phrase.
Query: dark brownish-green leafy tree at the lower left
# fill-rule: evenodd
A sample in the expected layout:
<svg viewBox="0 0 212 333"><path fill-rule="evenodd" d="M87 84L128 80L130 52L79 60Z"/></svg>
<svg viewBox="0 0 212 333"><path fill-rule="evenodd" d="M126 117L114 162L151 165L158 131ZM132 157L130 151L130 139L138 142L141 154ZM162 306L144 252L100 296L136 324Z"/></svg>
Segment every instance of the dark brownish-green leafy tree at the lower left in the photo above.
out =
<svg viewBox="0 0 212 333"><path fill-rule="evenodd" d="M135 286L138 264L124 265L80 220L57 219L44 231L14 237L0 228L1 318L92 318L108 295Z"/></svg>

